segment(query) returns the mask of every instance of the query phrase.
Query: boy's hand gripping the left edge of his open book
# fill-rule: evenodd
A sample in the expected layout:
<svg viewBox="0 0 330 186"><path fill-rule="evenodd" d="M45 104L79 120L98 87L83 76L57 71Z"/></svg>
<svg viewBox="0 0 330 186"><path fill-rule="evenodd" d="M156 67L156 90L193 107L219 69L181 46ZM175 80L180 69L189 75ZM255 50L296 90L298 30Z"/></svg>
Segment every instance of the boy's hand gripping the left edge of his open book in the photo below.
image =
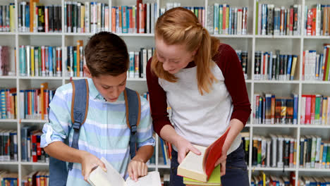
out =
<svg viewBox="0 0 330 186"><path fill-rule="evenodd" d="M87 151L82 151L81 155L81 173L86 182L88 182L88 177L90 176L90 173L92 172L93 168L95 168L96 166L99 166L103 169L103 171L106 172L106 167L104 163L100 159L98 159L97 156L94 156Z"/></svg>

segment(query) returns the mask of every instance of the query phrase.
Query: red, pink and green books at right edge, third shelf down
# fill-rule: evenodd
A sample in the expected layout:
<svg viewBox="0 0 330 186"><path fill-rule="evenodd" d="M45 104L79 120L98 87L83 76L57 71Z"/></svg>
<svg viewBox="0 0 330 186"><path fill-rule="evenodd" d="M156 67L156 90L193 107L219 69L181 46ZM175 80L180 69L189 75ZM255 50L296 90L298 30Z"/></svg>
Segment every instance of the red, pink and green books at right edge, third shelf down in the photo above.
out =
<svg viewBox="0 0 330 186"><path fill-rule="evenodd" d="M321 94L302 94L300 123L330 125L330 97Z"/></svg>

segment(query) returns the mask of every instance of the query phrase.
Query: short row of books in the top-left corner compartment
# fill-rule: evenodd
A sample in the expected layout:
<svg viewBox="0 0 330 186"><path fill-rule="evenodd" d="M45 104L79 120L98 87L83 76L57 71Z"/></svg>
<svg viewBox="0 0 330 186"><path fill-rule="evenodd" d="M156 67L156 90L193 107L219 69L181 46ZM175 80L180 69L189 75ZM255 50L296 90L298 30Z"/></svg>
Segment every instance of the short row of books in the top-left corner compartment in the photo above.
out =
<svg viewBox="0 0 330 186"><path fill-rule="evenodd" d="M15 32L15 4L0 5L0 32Z"/></svg>

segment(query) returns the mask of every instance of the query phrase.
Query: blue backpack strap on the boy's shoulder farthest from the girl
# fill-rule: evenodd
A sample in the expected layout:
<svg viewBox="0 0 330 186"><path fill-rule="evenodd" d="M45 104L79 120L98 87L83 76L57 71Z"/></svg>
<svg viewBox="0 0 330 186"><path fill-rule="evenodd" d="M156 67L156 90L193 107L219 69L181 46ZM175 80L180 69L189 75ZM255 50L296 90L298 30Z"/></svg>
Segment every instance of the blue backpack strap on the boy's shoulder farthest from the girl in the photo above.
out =
<svg viewBox="0 0 330 186"><path fill-rule="evenodd" d="M73 80L72 84L72 101L71 101L71 121L73 128L73 140L71 147L79 149L78 141L80 134L80 127L87 118L88 102L89 102L89 88L87 79ZM68 163L68 170L71 170L73 163Z"/></svg>

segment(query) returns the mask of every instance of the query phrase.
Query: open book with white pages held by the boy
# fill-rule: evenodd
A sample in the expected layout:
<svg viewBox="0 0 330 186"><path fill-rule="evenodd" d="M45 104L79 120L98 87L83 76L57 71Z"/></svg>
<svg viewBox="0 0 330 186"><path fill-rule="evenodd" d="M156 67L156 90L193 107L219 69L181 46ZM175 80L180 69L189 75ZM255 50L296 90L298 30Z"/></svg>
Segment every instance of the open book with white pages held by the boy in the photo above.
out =
<svg viewBox="0 0 330 186"><path fill-rule="evenodd" d="M114 169L111 164L102 157L101 161L106 166L106 172L97 167L88 178L92 186L161 186L159 172L149 172L144 177L138 178L138 182L131 180L130 177L125 181L123 177Z"/></svg>

